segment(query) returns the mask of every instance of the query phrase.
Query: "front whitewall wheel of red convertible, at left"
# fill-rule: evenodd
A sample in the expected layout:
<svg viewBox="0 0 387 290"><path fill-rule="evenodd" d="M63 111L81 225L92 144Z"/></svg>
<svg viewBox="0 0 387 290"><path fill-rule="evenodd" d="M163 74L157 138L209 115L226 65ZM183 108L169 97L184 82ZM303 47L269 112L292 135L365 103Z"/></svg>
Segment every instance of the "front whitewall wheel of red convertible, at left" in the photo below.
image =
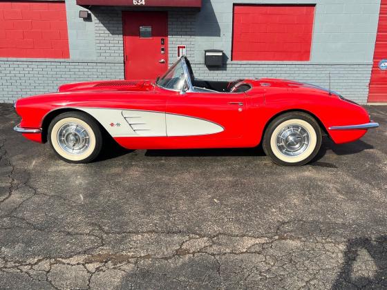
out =
<svg viewBox="0 0 387 290"><path fill-rule="evenodd" d="M66 112L48 126L48 142L54 152L69 163L88 163L100 154L102 133L86 113Z"/></svg>

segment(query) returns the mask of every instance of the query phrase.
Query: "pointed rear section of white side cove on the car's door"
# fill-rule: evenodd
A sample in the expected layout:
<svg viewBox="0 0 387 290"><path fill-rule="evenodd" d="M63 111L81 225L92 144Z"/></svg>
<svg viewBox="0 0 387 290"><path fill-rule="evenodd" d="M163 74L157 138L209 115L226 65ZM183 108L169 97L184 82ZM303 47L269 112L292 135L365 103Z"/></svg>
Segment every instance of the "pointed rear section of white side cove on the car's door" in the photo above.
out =
<svg viewBox="0 0 387 290"><path fill-rule="evenodd" d="M168 136L197 136L223 132L222 126L195 117L167 114Z"/></svg>

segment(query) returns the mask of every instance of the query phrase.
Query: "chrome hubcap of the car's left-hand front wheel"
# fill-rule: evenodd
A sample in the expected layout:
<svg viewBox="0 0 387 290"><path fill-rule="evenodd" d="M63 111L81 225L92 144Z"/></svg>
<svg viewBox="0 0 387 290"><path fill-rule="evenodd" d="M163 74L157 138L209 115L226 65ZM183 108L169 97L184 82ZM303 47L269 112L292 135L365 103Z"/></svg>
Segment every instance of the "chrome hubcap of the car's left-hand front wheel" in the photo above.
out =
<svg viewBox="0 0 387 290"><path fill-rule="evenodd" d="M74 155L84 153L90 146L88 131L75 123L66 123L59 128L57 141L64 151Z"/></svg>

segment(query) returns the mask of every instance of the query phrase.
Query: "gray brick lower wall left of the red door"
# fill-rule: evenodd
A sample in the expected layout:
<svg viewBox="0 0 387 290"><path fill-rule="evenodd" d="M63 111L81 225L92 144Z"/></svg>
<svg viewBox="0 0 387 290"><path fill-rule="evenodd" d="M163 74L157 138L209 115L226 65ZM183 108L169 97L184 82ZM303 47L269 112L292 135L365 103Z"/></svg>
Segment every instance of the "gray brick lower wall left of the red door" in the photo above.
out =
<svg viewBox="0 0 387 290"><path fill-rule="evenodd" d="M0 59L0 102L56 92L61 84L98 79L123 79L122 63Z"/></svg>

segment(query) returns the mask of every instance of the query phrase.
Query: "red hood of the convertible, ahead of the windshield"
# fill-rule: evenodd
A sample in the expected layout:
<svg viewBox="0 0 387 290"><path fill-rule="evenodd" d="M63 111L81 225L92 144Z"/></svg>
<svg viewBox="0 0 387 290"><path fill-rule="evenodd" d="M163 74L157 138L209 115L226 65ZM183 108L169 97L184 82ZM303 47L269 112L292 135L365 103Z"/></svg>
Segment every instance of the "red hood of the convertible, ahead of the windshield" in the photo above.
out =
<svg viewBox="0 0 387 290"><path fill-rule="evenodd" d="M59 86L58 92L68 93L110 90L148 91L153 90L153 88L152 81L88 81L83 83L64 84Z"/></svg>

